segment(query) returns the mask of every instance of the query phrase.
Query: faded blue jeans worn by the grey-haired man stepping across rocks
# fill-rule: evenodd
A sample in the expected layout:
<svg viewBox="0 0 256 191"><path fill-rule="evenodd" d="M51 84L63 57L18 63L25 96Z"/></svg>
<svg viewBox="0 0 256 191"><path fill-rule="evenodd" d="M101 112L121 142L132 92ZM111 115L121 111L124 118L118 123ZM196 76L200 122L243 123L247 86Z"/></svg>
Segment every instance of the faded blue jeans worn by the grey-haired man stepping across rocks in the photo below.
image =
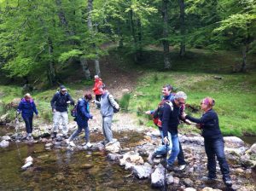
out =
<svg viewBox="0 0 256 191"><path fill-rule="evenodd" d="M175 159L177 158L177 155L180 151L180 149L179 149L180 144L178 142L177 134L171 134L168 131L168 139L170 141L170 145L167 146L167 152L172 149L171 156L168 159L168 165L172 165L174 163ZM156 150L154 151L154 153L157 154L157 155L166 154L167 152L166 152L166 145L161 145L159 148L156 148Z"/></svg>

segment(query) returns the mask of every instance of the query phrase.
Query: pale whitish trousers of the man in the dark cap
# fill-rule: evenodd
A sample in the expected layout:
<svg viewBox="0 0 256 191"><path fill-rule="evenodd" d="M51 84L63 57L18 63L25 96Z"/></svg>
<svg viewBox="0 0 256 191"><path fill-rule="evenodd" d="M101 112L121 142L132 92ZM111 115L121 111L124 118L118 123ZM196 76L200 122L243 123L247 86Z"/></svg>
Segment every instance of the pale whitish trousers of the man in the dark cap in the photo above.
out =
<svg viewBox="0 0 256 191"><path fill-rule="evenodd" d="M68 123L68 115L67 112L55 112L54 113L54 118L53 118L53 122L54 122L54 128L53 131L55 133L58 132L58 127L60 125L60 121L62 121L62 132L64 135L67 135L68 129L67 129L67 123Z"/></svg>

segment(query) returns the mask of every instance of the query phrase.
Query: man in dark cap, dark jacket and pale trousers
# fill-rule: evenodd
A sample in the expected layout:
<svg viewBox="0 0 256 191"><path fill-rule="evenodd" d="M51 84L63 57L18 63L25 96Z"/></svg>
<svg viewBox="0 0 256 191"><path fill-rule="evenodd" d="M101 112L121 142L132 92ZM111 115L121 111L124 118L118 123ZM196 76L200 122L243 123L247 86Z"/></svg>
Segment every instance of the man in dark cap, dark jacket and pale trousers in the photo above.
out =
<svg viewBox="0 0 256 191"><path fill-rule="evenodd" d="M67 106L68 104L74 105L72 97L67 93L67 89L64 85L60 86L60 90L55 93L53 98L50 101L52 107L53 115L53 135L55 138L59 128L59 122L62 121L62 133L65 138L67 138L67 123L68 123L68 114Z"/></svg>

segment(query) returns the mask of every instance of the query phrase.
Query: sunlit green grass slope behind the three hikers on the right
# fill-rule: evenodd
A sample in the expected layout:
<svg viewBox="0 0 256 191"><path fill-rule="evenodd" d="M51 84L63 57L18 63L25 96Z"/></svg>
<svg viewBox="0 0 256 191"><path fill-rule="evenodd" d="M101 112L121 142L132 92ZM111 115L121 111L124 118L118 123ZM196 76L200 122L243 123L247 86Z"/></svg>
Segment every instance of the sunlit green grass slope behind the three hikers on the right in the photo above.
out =
<svg viewBox="0 0 256 191"><path fill-rule="evenodd" d="M143 111L154 109L160 101L162 85L172 84L177 90L183 90L188 95L187 102L194 106L200 107L201 99L206 96L214 98L214 109L224 135L256 135L255 74L223 74L222 79L215 79L214 75L218 74L147 72L138 80L140 83L133 93L130 107ZM201 116L201 112L192 114ZM146 124L153 125L149 119Z"/></svg>

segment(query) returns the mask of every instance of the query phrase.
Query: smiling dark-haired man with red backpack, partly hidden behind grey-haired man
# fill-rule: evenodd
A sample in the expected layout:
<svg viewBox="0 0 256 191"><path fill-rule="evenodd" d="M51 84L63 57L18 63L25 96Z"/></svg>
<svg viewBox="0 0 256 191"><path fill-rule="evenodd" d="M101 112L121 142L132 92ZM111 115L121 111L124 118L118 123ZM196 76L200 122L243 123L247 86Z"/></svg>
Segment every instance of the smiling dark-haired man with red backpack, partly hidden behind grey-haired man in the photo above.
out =
<svg viewBox="0 0 256 191"><path fill-rule="evenodd" d="M162 100L161 100L161 103L164 104L166 101L172 101L174 100L174 96L175 94L172 94L172 85L170 84L166 84L163 86L162 88ZM161 104L160 103L160 104ZM159 109L163 109L163 107L160 107ZM180 113L183 113L184 111L184 105L182 105L180 107ZM147 111L145 112L146 114L151 114L151 115L154 115L154 112L155 110L153 111ZM162 112L162 111L161 111ZM161 113L162 114L162 113ZM162 121L162 116L160 116L160 118L158 119L158 121L156 122L156 125L158 126L159 130L160 130L160 136L162 138L162 142L164 140L164 136L163 136L163 130L162 130L162 124L161 124L161 121ZM186 161L184 159L184 154L183 154L183 148L181 146L181 143L178 142L179 144L179 153L177 155L177 163L179 165L178 167L178 171L183 171L185 168L186 168ZM169 148L170 150L172 148ZM159 148L156 149L157 151L160 151L160 152L166 152L166 146L165 145L161 145ZM150 153L149 156L148 156L148 162L150 164L153 164L153 160L154 158L157 156L157 154L154 153Z"/></svg>

